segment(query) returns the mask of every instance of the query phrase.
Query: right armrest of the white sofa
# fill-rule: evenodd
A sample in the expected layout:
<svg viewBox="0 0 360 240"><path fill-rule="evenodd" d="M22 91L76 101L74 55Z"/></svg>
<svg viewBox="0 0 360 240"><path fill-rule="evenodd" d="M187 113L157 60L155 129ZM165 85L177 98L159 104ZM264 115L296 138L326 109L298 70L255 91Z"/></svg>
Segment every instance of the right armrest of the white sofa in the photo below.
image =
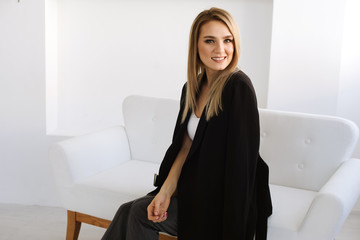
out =
<svg viewBox="0 0 360 240"><path fill-rule="evenodd" d="M302 230L316 235L304 239L333 239L359 196L360 159L350 159L339 167L313 200Z"/></svg>

